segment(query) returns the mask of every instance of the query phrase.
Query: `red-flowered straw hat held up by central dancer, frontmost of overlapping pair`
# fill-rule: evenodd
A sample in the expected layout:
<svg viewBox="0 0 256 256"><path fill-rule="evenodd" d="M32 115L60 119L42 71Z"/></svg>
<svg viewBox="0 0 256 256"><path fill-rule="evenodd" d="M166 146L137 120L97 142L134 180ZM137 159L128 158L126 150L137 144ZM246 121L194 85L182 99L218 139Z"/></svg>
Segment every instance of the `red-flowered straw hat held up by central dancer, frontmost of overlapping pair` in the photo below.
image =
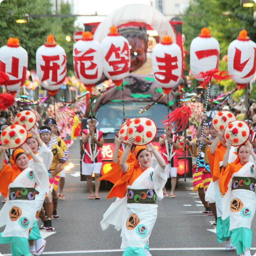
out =
<svg viewBox="0 0 256 256"><path fill-rule="evenodd" d="M128 139L135 138L135 145L147 145L155 139L157 127L154 121L147 117L135 118L127 129Z"/></svg>

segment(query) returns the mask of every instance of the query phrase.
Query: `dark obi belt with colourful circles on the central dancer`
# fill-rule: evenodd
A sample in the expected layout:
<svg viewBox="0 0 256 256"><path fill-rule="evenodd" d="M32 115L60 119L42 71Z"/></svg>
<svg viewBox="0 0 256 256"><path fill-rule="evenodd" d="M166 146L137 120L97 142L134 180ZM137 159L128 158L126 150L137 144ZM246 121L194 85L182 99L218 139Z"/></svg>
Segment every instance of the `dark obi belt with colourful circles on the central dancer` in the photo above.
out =
<svg viewBox="0 0 256 256"><path fill-rule="evenodd" d="M156 204L154 189L128 189L128 204Z"/></svg>

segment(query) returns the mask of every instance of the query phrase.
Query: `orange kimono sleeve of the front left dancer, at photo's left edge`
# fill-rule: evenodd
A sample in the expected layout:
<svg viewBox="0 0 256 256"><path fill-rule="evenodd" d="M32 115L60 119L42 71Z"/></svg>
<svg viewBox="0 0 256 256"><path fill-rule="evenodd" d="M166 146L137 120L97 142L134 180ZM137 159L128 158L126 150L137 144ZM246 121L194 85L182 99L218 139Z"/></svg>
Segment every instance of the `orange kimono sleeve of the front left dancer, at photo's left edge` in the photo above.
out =
<svg viewBox="0 0 256 256"><path fill-rule="evenodd" d="M9 165L4 164L3 169L0 172L0 192L4 197L8 196L9 184L15 180L18 176L15 170L13 170Z"/></svg>

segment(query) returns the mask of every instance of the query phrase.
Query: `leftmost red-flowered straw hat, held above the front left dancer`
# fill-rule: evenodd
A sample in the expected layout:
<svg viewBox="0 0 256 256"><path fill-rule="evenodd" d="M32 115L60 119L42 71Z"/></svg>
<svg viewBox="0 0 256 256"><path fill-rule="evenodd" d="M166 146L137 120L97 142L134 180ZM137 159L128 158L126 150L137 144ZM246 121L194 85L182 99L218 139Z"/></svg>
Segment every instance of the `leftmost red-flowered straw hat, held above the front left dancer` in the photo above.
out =
<svg viewBox="0 0 256 256"><path fill-rule="evenodd" d="M21 125L12 124L1 133L1 143L10 144L10 148L18 148L27 140L28 132Z"/></svg>

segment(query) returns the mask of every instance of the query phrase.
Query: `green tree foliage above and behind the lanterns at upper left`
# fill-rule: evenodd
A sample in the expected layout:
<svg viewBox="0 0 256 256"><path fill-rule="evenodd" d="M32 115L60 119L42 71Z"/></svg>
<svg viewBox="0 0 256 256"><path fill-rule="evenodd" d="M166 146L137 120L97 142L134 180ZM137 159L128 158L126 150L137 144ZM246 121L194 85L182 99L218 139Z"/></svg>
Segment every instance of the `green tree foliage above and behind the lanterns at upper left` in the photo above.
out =
<svg viewBox="0 0 256 256"><path fill-rule="evenodd" d="M61 4L60 13L68 14L70 5ZM9 37L17 37L21 47L28 52L28 69L36 69L36 50L44 44L49 34L56 37L67 54L67 68L73 70L72 42L65 40L72 37L75 28L75 18L55 17L25 17L25 14L52 14L49 0L5 0L0 4L0 47L6 45ZM16 23L18 19L25 19L27 23Z"/></svg>

